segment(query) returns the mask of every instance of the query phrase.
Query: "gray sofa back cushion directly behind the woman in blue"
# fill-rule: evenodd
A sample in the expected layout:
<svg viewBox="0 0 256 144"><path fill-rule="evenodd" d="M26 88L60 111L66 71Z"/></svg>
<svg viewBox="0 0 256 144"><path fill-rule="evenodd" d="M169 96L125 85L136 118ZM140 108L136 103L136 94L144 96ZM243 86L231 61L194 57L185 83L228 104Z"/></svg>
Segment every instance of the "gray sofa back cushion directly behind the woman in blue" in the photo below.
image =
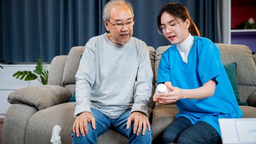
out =
<svg viewBox="0 0 256 144"><path fill-rule="evenodd" d="M256 66L251 50L248 46L237 44L220 44L219 47L221 61L223 65L237 63L237 81L240 99L246 102L248 97L256 90ZM157 73L159 61L169 46L161 46L156 49L155 54L155 87L157 86ZM256 59L256 58L255 58Z"/></svg>

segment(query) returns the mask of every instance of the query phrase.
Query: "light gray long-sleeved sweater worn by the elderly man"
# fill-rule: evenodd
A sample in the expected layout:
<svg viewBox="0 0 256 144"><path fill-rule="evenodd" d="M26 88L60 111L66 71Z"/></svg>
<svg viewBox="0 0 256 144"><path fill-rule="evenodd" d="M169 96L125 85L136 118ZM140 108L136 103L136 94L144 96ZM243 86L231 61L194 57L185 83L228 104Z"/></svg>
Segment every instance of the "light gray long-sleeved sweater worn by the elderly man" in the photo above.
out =
<svg viewBox="0 0 256 144"><path fill-rule="evenodd" d="M148 116L153 72L145 42L131 37L124 45L112 43L107 34L91 38L85 45L76 77L75 118L90 107L109 118L126 109Z"/></svg>

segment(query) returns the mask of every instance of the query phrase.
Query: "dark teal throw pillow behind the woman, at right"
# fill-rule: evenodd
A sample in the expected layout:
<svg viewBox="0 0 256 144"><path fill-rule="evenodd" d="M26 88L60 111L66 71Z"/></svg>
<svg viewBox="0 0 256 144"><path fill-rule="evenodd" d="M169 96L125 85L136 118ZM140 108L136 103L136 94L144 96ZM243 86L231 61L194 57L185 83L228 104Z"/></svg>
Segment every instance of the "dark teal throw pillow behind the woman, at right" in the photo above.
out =
<svg viewBox="0 0 256 144"><path fill-rule="evenodd" d="M226 70L226 73L229 77L229 81L230 81L233 91L235 93L235 99L237 101L237 104L238 105L248 105L247 103L240 101L237 78L236 78L236 62L232 62L228 65L224 65L224 68Z"/></svg>

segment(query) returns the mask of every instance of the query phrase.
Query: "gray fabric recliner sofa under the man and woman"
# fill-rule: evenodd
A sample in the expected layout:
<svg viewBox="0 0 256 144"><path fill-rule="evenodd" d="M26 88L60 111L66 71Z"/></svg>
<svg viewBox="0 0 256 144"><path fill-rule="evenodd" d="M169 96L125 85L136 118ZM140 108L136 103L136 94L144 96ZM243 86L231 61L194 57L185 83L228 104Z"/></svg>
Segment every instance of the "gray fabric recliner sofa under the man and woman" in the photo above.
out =
<svg viewBox="0 0 256 144"><path fill-rule="evenodd" d="M223 64L237 62L237 78L244 117L256 117L256 66L255 55L244 45L217 44ZM157 86L158 64L168 46L148 47L154 72L152 95ZM74 122L74 103L68 102L75 90L75 73L84 47L77 46L68 56L56 56L49 72L47 86L25 87L12 92L8 101L3 126L3 143L50 143L53 126L61 126L62 143L71 143ZM155 107L152 97L148 105L153 130L153 142L161 140L161 133L178 113L175 105ZM127 139L115 131L108 131L98 138L98 143L127 143Z"/></svg>

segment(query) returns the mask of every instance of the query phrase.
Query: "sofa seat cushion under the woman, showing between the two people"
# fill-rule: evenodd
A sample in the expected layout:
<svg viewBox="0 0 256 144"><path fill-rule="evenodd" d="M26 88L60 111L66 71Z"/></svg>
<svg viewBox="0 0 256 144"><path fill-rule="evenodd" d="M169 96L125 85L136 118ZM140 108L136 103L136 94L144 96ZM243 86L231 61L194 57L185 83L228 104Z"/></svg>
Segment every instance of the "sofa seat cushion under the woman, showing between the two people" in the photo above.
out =
<svg viewBox="0 0 256 144"><path fill-rule="evenodd" d="M174 121L178 113L176 105L158 106L153 109L152 129L155 141L162 138L161 134Z"/></svg>

